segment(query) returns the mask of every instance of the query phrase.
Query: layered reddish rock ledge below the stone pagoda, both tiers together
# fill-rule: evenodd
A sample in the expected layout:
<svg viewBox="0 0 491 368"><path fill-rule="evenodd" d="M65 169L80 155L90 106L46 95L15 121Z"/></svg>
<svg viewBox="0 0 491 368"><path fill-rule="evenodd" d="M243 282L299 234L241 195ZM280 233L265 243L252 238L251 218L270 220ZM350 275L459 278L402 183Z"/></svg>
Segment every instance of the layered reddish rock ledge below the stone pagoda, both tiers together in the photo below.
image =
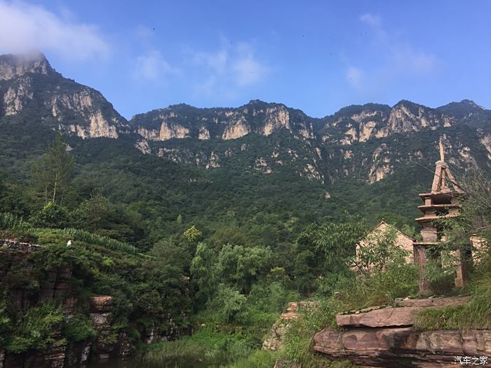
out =
<svg viewBox="0 0 491 368"><path fill-rule="evenodd" d="M331 360L350 360L363 367L455 367L457 357L491 357L491 330L419 331L412 327L422 309L467 301L469 297L403 299L394 306L342 313L337 315L342 329L318 332L314 350Z"/></svg>

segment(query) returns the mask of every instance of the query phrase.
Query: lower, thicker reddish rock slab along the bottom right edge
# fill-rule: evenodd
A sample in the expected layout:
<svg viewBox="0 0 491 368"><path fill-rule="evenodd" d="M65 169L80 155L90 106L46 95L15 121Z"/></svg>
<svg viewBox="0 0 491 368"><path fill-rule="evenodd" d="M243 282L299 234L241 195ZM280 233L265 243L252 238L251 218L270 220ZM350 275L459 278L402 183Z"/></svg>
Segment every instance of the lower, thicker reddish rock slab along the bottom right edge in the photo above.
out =
<svg viewBox="0 0 491 368"><path fill-rule="evenodd" d="M456 356L491 356L491 330L324 329L314 342L328 359L372 367L455 367Z"/></svg>

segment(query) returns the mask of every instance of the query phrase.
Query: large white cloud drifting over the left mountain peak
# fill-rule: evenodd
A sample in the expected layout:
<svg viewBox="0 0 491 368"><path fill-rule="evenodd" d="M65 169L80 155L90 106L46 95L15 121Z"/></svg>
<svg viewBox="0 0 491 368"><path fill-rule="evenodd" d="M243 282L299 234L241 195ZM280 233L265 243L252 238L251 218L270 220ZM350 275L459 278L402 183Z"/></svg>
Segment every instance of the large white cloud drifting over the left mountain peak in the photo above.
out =
<svg viewBox="0 0 491 368"><path fill-rule="evenodd" d="M49 50L72 60L109 55L109 45L97 27L61 18L42 6L0 0L0 51L32 49Z"/></svg>

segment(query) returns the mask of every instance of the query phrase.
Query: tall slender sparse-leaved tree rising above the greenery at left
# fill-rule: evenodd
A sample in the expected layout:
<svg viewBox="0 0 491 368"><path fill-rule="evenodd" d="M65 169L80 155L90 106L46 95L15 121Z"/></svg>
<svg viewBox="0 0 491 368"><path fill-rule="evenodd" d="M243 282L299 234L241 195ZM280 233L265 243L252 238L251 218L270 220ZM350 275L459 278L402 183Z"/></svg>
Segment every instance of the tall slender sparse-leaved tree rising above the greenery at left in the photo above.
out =
<svg viewBox="0 0 491 368"><path fill-rule="evenodd" d="M74 165L74 158L67 152L67 145L57 135L55 142L48 145L32 170L34 183L44 191L45 203L56 203L59 200L62 205Z"/></svg>

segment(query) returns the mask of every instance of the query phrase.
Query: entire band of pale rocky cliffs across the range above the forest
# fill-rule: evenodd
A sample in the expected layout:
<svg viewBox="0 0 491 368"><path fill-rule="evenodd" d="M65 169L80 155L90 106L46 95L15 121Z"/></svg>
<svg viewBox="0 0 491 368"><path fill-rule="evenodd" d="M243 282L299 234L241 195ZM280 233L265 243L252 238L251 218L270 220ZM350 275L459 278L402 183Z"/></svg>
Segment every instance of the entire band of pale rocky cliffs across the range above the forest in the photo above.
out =
<svg viewBox="0 0 491 368"><path fill-rule="evenodd" d="M142 153L177 163L288 172L321 183L354 177L372 184L411 163L432 164L441 136L452 165L491 169L491 111L469 100L438 109L405 100L356 105L321 119L258 100L238 108L178 104L126 121L42 54L0 56L0 123L33 118L82 139L124 135Z"/></svg>

